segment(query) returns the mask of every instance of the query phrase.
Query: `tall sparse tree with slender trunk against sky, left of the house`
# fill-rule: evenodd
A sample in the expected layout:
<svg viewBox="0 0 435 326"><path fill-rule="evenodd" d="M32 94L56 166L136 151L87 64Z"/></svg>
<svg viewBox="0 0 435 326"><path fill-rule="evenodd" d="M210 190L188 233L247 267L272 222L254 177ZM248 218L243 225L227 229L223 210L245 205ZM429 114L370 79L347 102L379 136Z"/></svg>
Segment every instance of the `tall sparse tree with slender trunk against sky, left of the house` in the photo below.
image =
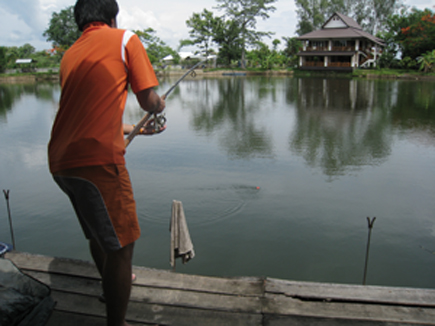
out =
<svg viewBox="0 0 435 326"><path fill-rule="evenodd" d="M229 20L237 22L241 32L242 46L242 68L245 67L246 46L255 44L263 36L270 36L270 32L259 32L255 30L257 17L269 18L269 12L275 11L272 6L276 0L217 0L220 5L218 9L225 10L225 16Z"/></svg>

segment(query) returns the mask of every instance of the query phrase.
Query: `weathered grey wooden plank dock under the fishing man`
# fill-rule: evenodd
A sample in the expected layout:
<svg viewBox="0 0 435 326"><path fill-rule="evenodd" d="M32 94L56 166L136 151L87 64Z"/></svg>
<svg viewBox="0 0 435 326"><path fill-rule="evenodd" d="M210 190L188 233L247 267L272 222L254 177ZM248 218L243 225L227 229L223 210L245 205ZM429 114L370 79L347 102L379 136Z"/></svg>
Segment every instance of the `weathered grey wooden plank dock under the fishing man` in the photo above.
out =
<svg viewBox="0 0 435 326"><path fill-rule="evenodd" d="M11 252L57 302L48 326L104 326L101 282L90 262ZM134 267L132 325L435 325L435 290L220 278Z"/></svg>

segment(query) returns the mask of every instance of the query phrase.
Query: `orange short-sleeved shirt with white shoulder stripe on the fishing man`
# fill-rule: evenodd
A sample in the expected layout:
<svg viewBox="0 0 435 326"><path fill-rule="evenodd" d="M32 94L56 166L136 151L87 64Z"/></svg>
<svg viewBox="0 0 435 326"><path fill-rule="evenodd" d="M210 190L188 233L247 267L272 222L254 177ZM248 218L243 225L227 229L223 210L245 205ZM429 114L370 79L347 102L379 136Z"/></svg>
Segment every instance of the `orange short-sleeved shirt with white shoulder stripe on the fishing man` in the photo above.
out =
<svg viewBox="0 0 435 326"><path fill-rule="evenodd" d="M137 35L90 24L65 52L60 82L59 111L48 145L51 173L125 164L122 116L128 86L138 93L158 85Z"/></svg>

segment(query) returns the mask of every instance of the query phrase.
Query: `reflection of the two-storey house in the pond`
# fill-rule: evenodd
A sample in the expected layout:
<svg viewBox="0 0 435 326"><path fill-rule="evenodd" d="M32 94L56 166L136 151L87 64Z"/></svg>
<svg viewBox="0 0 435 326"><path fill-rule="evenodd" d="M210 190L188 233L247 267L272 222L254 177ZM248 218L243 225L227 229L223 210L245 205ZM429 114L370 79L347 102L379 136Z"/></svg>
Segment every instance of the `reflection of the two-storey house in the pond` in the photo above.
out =
<svg viewBox="0 0 435 326"><path fill-rule="evenodd" d="M299 79L290 149L329 177L377 165L391 152L394 92L375 81Z"/></svg>

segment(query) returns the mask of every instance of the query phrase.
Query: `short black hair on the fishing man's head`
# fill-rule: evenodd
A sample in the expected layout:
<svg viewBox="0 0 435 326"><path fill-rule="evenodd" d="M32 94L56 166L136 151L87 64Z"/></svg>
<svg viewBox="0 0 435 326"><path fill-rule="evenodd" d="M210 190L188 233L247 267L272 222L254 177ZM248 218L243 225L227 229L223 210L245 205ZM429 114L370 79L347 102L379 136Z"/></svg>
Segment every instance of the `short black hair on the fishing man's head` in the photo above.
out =
<svg viewBox="0 0 435 326"><path fill-rule="evenodd" d="M77 0L74 6L74 18L80 31L86 24L103 22L110 25L119 12L116 0Z"/></svg>

